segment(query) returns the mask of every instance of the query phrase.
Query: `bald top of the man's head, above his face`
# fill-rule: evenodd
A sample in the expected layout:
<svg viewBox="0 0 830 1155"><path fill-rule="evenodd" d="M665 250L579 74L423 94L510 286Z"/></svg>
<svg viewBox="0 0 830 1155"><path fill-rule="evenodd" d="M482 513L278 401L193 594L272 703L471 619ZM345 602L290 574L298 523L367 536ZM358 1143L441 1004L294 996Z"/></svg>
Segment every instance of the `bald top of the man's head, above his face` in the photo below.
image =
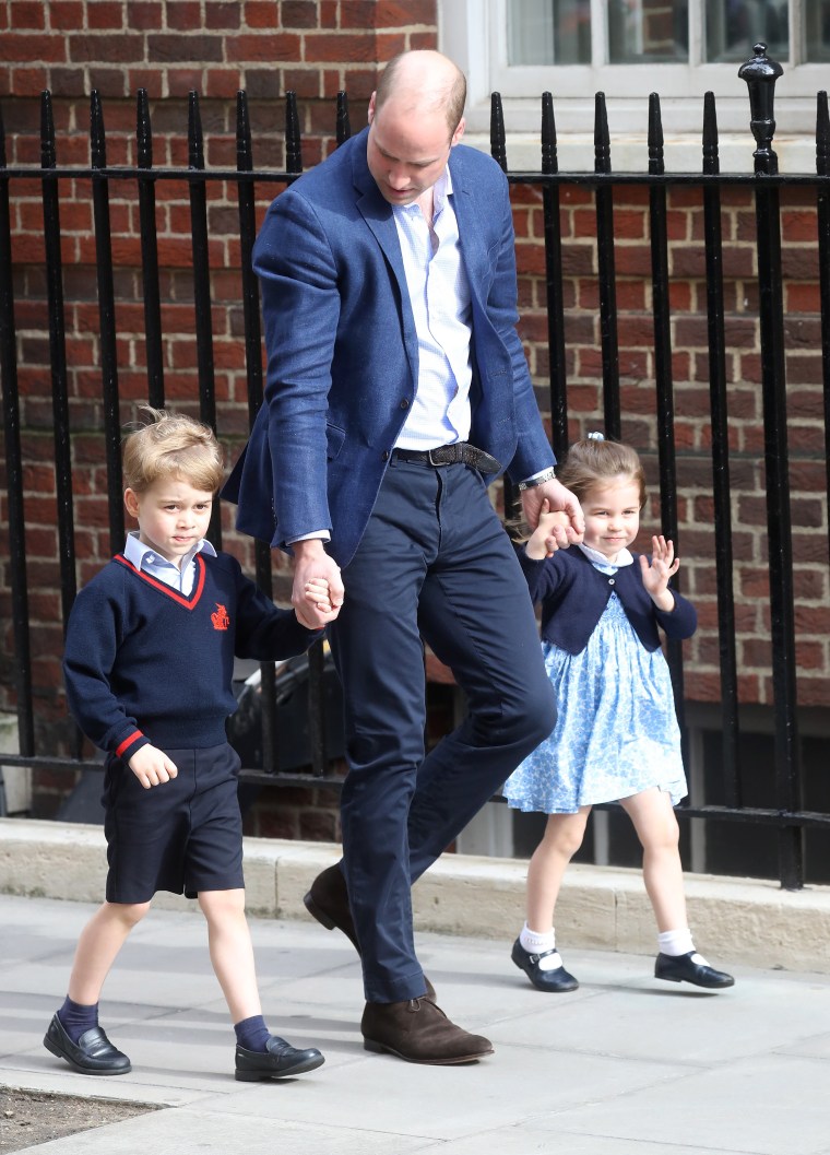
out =
<svg viewBox="0 0 830 1155"><path fill-rule="evenodd" d="M451 136L464 114L466 80L449 57L416 50L392 57L377 82L374 111L394 103L396 112L418 116L441 109Z"/></svg>

